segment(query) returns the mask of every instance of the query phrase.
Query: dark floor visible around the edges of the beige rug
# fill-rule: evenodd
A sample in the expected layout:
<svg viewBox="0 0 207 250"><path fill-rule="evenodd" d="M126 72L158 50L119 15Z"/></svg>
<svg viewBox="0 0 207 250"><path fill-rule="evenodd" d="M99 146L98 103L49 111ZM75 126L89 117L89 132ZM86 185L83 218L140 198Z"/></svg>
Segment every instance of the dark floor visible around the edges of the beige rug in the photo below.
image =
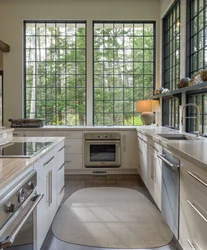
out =
<svg viewBox="0 0 207 250"><path fill-rule="evenodd" d="M74 192L82 188L111 186L111 187L125 187L125 188L136 189L154 203L150 193L148 192L147 188L145 187L139 175L106 175L106 176L67 175L65 177L65 185L66 185L65 195L62 202L64 202ZM41 248L41 250L103 250L103 249L106 248L80 246L60 241L56 237L54 237L51 229L49 230L47 237L43 243L43 246ZM112 250L112 249L107 248L106 250ZM153 250L182 250L182 248L180 247L178 241L176 239L173 239L169 245L160 248L153 248Z"/></svg>

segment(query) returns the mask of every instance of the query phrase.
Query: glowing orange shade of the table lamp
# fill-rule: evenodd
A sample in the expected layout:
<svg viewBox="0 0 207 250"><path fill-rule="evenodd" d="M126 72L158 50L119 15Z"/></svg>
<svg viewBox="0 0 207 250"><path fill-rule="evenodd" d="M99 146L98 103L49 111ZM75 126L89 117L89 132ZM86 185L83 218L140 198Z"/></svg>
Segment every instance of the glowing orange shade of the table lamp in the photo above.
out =
<svg viewBox="0 0 207 250"><path fill-rule="evenodd" d="M137 101L137 112L156 112L160 110L158 100L139 100Z"/></svg>

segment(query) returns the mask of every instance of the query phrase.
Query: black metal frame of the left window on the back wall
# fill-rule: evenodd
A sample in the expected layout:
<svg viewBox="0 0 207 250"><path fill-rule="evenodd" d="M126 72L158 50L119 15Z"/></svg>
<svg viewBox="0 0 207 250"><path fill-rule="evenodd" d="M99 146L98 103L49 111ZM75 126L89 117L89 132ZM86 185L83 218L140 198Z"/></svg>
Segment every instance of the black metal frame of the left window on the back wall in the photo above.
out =
<svg viewBox="0 0 207 250"><path fill-rule="evenodd" d="M86 122L87 122L87 21L86 20L24 20L24 117L26 118L27 117L27 107L26 107L26 102L27 102L27 96L26 96L26 90L27 90L27 86L26 86L26 77L27 77L27 72L26 72L26 63L27 63L27 61L26 61L26 25L28 24L28 23L35 23L35 27L36 27L36 25L37 24L39 24L39 23L43 23L43 24L55 24L55 27L57 26L57 24L75 24L75 27L77 27L77 24L84 24L84 28L85 28L85 35L83 36L83 37L85 37L85 47L83 48L83 50L85 51L85 60L83 60L83 62L85 63L85 73L84 74L74 74L74 79L75 79L75 99L73 100L74 101L74 106L75 106L75 112L73 113L73 111L71 111L71 113L70 113L70 111L69 112L67 112L66 111L66 107L67 107L67 105L66 105L66 102L67 102L67 98L66 98L66 94L65 94L65 109L64 109L64 114L65 114L65 119L64 119L64 121L65 122L63 122L62 124L57 124L58 123L58 120L56 119L56 121L55 121L55 124L53 124L53 125L68 125L68 122L69 122L69 120L70 119L68 119L67 120L67 115L66 114L75 114L75 122L74 122L74 124L72 124L72 125L86 125ZM35 33L35 35L34 35L35 37L36 36L38 36L38 34L36 34ZM47 37L48 35L47 34L45 34L45 40L46 40L46 37ZM51 35L52 36L52 35ZM59 37L60 37L61 35L59 35ZM57 35L55 34L55 37L57 37ZM67 37L67 35L65 34L65 37ZM75 34L75 39L77 38L78 36ZM75 43L76 43L76 40L75 40ZM45 48L46 48L46 41L45 41ZM56 47L56 45L55 45L55 48L54 48L55 50L58 50L58 49L63 49L63 50L65 50L65 54L67 53L66 52L66 49L68 49L68 48L66 48L66 46L65 46L65 48L63 47L63 48L60 48L60 47ZM75 58L77 59L77 49L78 49L78 47L77 46L75 46ZM36 46L36 38L35 38L35 50L37 50L37 46ZM36 58L37 56L35 55L35 58ZM34 62L37 62L37 60L35 59L35 61ZM46 61L45 61L46 62ZM60 61L56 61L56 60L54 60L53 62L59 62L60 63ZM62 61L62 62L64 62L64 61ZM66 61L65 60L65 63L66 62L72 62L72 61ZM75 60L75 62L77 62L76 60ZM56 67L56 66L55 66ZM66 67L66 66L65 66ZM75 66L75 68L76 68L76 66ZM75 69L75 71L77 72L77 69ZM35 74L36 75L36 74ZM45 74L44 74L45 76L47 75L47 73L46 73L46 71L45 71ZM64 74L54 74L55 75L55 79L56 79L56 77L58 77L58 76L60 76L60 75L64 75ZM72 74L70 74L70 75L72 75ZM85 102L85 108L84 108L84 112L82 112L81 114L83 115L83 119L82 119L82 121L83 121L83 124L78 124L78 114L80 114L77 110L78 110L78 104L77 104L77 88L79 88L79 87L77 87L77 76L78 75L84 75L84 78L85 78L85 80L84 80L84 87L83 87L83 89L84 89L84 98L83 99L81 99L82 100L82 102L84 101ZM65 73L65 77L67 76L67 74ZM55 80L56 81L56 80ZM65 80L65 82L66 82L66 80ZM46 87L45 87L46 88ZM68 87L66 87L65 86L65 91L67 92L67 90L66 90L66 88L69 90L69 88ZM82 86L80 87L80 88L82 88ZM57 87L57 89L58 89L58 87ZM57 89L55 90L55 92L57 92ZM56 94L55 94L56 95ZM56 95L57 96L57 95ZM63 100L63 102L64 102L64 100ZM35 100L36 101L36 100ZM56 105L57 105L57 103L58 103L58 101L59 100L57 100L57 99L55 99L55 103L56 103ZM47 102L47 98L45 99L45 103ZM36 105L36 104L35 104ZM55 113L53 112L53 113L51 113L50 115L51 115L51 117L52 116L57 116L57 112L58 112L58 110L57 110L57 106L56 106L56 108L55 108ZM43 116L42 118L43 119L45 119L45 125L51 125L50 123L48 123L47 122L47 115L48 115L48 113L45 111L45 116ZM36 110L36 112L35 112L35 116L37 116L37 110Z"/></svg>

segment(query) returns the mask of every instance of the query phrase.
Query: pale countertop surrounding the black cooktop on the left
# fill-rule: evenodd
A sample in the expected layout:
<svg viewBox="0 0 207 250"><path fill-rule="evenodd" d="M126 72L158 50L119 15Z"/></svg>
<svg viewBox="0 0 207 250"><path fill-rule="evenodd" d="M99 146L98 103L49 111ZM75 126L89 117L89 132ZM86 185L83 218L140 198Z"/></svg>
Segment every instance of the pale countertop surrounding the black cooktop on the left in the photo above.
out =
<svg viewBox="0 0 207 250"><path fill-rule="evenodd" d="M33 164L63 141L64 137L14 137L12 142L53 142L32 158L0 158L0 195L6 186L33 168Z"/></svg>

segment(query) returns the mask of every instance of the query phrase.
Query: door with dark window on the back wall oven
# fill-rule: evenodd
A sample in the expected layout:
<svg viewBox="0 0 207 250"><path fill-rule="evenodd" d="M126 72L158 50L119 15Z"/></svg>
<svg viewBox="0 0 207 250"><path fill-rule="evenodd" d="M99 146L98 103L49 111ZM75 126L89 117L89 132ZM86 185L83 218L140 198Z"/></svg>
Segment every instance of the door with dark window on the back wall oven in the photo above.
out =
<svg viewBox="0 0 207 250"><path fill-rule="evenodd" d="M121 165L120 141L86 141L86 167L119 167Z"/></svg>

